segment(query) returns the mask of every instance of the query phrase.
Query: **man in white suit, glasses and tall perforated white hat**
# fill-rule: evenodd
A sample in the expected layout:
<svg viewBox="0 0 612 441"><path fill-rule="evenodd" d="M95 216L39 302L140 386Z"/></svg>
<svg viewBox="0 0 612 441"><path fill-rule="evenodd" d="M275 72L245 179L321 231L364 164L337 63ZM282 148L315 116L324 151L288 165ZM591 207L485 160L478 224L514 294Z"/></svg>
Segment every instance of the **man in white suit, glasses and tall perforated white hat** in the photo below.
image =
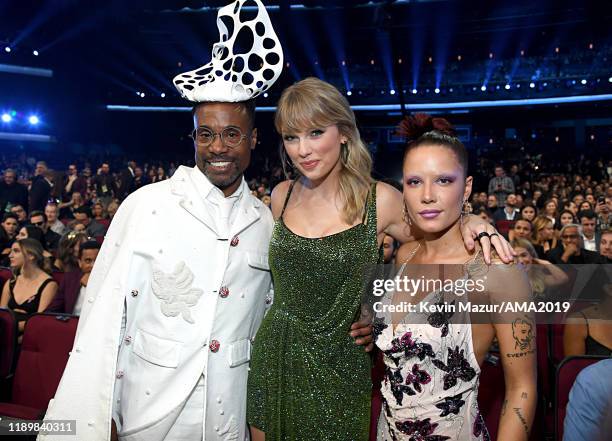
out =
<svg viewBox="0 0 612 441"><path fill-rule="evenodd" d="M197 165L127 197L104 240L70 359L45 416L76 419L76 439L248 439L248 366L251 343L272 303L268 246L274 222L243 174L257 144L252 98L272 85L283 65L267 12L256 2L266 28L256 38L276 41L274 76L259 89L229 75L202 77L193 86L207 67L175 78L183 96L196 103ZM242 3L219 15L236 22ZM209 64L224 69L234 36L218 25L222 38ZM263 50L256 40L257 48ZM362 337L357 343L369 344L371 327L354 326L353 335Z"/></svg>

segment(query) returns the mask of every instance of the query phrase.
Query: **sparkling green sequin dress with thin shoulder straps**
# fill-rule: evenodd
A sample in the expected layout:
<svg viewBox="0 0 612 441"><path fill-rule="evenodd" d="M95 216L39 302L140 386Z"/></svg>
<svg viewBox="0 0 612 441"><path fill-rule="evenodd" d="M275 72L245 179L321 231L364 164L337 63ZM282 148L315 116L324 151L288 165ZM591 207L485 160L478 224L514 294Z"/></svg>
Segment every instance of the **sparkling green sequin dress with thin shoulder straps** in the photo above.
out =
<svg viewBox="0 0 612 441"><path fill-rule="evenodd" d="M366 441L370 356L349 332L359 317L364 266L380 260L376 184L363 222L337 234L298 236L283 213L270 242L274 304L255 337L248 422L266 441Z"/></svg>

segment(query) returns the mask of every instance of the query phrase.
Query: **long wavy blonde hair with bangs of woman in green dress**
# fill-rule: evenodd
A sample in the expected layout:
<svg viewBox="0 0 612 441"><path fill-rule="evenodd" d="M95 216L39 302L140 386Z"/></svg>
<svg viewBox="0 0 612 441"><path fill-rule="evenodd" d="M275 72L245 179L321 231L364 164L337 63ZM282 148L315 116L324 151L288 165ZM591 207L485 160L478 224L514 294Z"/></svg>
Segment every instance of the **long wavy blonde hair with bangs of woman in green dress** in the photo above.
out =
<svg viewBox="0 0 612 441"><path fill-rule="evenodd" d="M274 125L279 134L296 133L335 125L348 139L340 151L340 187L343 219L352 224L365 210L372 179L372 157L361 140L355 113L346 98L331 84L310 77L285 89L278 102ZM280 155L285 168L287 153L281 141Z"/></svg>

